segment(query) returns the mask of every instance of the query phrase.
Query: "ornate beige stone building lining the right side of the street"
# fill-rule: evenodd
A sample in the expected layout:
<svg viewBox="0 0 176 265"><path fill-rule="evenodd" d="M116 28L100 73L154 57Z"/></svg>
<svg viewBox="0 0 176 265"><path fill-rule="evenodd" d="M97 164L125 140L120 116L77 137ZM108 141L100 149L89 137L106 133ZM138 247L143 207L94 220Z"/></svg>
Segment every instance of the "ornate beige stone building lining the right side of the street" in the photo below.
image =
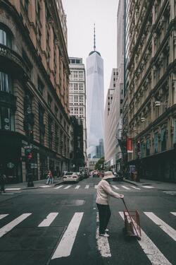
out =
<svg viewBox="0 0 176 265"><path fill-rule="evenodd" d="M176 182L175 1L126 1L126 6L130 42L123 123L133 139L128 164L136 165L140 177Z"/></svg>

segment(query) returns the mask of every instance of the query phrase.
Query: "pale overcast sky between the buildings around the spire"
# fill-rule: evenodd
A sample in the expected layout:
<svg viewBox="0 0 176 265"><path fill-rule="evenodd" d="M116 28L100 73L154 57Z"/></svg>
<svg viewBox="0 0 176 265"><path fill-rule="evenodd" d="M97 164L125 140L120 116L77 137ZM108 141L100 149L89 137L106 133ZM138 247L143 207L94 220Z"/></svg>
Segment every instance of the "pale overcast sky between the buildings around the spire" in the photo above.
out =
<svg viewBox="0 0 176 265"><path fill-rule="evenodd" d="M123 1L123 0L121 0ZM117 65L117 11L118 0L62 0L67 15L68 56L86 58L94 49L94 23L96 50L104 61L105 100L111 71Z"/></svg>

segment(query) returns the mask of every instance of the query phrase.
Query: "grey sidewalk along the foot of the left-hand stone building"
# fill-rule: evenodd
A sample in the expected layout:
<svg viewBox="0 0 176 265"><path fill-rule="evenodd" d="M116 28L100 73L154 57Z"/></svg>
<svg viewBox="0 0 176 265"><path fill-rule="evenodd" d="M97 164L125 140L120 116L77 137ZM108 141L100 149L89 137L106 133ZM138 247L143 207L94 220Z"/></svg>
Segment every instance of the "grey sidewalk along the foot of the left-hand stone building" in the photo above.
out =
<svg viewBox="0 0 176 265"><path fill-rule="evenodd" d="M63 182L62 177L54 179L54 184L46 184L46 179L34 180L34 187L27 187L27 182L20 182L15 184L6 184L5 189L40 189L44 187L55 187Z"/></svg>

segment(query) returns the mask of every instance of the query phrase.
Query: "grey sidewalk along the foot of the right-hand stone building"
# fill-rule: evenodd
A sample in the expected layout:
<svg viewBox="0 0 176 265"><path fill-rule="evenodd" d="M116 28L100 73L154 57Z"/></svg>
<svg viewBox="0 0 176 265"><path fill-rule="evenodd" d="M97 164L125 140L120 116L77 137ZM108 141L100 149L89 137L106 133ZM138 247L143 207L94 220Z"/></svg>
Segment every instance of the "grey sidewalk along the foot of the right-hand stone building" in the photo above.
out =
<svg viewBox="0 0 176 265"><path fill-rule="evenodd" d="M159 180L151 180L151 179L140 179L140 182L135 182L132 179L123 179L124 182L128 182L137 187L154 187L163 191L176 191L176 183L172 182L162 182Z"/></svg>

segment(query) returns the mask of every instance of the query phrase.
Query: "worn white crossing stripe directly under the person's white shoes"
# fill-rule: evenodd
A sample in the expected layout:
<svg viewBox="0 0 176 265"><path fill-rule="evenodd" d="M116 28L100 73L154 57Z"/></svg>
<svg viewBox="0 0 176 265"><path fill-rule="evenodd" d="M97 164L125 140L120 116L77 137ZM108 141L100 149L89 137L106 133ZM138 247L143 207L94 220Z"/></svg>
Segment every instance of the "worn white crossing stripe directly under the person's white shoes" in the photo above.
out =
<svg viewBox="0 0 176 265"><path fill-rule="evenodd" d="M111 251L107 237L99 236L99 213L96 213L96 245L99 249L101 257L111 257Z"/></svg>

